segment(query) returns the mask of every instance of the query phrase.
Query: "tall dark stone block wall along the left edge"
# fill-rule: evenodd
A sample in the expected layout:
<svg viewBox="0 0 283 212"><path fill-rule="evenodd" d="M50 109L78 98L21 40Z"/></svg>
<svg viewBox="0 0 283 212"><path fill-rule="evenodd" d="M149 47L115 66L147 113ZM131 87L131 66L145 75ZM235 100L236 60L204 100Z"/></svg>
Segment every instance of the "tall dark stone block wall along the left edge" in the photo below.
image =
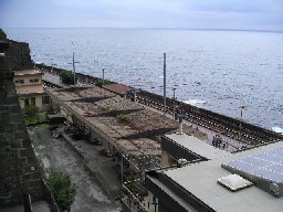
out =
<svg viewBox="0 0 283 212"><path fill-rule="evenodd" d="M6 45L0 42L0 52ZM0 208L43 200L40 170L23 123L9 60L0 54Z"/></svg>

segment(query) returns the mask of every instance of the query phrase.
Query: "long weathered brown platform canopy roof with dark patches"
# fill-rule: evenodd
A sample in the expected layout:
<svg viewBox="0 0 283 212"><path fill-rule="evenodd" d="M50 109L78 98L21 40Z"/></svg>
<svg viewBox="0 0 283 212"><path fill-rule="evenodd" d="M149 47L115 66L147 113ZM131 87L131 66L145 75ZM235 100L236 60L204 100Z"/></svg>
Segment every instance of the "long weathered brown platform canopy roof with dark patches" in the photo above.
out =
<svg viewBox="0 0 283 212"><path fill-rule="evenodd" d="M170 118L97 86L49 89L49 93L126 155L160 155L160 144L148 137L178 129ZM127 120L123 121L118 115Z"/></svg>

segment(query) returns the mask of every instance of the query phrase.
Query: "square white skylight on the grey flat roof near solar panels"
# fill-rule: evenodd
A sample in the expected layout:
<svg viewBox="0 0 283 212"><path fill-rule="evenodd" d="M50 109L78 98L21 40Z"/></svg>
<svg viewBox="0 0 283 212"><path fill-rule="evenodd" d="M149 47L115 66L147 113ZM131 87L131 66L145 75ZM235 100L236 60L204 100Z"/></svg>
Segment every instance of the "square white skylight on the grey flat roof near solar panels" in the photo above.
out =
<svg viewBox="0 0 283 212"><path fill-rule="evenodd" d="M218 179L218 182L231 191L237 191L252 186L252 182L243 179L241 176L238 174L229 174L226 177L221 177Z"/></svg>

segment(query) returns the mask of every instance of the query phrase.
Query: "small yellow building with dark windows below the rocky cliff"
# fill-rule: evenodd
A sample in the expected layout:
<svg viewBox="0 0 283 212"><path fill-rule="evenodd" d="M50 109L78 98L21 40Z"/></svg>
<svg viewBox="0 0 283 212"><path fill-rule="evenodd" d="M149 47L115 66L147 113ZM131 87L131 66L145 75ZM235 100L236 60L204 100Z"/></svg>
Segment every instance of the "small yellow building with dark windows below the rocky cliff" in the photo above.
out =
<svg viewBox="0 0 283 212"><path fill-rule="evenodd" d="M28 105L38 106L41 110L48 110L50 97L45 94L42 85L43 73L36 70L14 71L13 82L20 105L23 109Z"/></svg>

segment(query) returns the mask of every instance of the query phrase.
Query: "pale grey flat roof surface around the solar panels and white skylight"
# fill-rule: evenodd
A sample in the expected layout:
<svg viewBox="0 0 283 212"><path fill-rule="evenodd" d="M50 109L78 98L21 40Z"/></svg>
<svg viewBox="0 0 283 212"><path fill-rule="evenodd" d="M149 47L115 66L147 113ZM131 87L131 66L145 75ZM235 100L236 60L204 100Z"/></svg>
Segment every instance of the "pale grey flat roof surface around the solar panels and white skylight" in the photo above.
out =
<svg viewBox="0 0 283 212"><path fill-rule="evenodd" d="M255 186L232 192L217 181L220 177L231 174L221 168L223 162L279 147L283 147L283 142L270 144L229 157L188 165L165 171L164 174L218 212L281 212L283 198L275 198Z"/></svg>

